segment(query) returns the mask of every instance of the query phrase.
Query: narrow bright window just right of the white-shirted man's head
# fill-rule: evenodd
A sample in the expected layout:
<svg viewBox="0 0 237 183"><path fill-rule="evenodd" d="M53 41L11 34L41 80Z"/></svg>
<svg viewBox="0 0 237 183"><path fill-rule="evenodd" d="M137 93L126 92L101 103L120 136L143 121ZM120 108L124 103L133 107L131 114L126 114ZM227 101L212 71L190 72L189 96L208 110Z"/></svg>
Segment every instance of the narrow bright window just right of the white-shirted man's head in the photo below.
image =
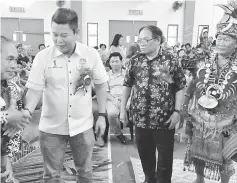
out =
<svg viewBox="0 0 237 183"><path fill-rule="evenodd" d="M87 45L98 46L98 23L87 23Z"/></svg>

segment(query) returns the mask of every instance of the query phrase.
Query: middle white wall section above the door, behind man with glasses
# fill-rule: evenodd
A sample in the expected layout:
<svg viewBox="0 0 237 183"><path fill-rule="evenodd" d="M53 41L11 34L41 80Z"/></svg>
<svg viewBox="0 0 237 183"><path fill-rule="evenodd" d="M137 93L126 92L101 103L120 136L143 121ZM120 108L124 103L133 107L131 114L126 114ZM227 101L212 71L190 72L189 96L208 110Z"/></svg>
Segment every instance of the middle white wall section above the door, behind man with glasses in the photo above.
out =
<svg viewBox="0 0 237 183"><path fill-rule="evenodd" d="M82 42L87 43L87 23L98 23L99 44L109 45L109 20L157 21L167 35L168 24L179 24L179 40L183 39L183 8L174 12L173 1L83 1L82 2ZM129 10L143 10L143 15L128 15Z"/></svg>

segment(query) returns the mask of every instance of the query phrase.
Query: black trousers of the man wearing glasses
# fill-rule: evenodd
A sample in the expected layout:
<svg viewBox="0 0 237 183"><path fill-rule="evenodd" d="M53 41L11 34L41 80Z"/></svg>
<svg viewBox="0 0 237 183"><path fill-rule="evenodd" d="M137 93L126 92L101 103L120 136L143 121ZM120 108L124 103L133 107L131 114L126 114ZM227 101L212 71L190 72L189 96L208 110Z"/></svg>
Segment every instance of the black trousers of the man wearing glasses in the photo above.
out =
<svg viewBox="0 0 237 183"><path fill-rule="evenodd" d="M147 183L171 183L175 130L136 127L136 144ZM156 172L156 148L158 151Z"/></svg>

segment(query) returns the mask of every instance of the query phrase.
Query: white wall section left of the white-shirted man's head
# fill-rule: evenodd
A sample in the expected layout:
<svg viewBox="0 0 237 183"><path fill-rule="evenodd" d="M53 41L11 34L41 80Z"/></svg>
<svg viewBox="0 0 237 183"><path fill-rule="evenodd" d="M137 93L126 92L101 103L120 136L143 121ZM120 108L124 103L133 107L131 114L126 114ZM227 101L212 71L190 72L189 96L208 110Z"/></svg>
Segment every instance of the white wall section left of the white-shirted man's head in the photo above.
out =
<svg viewBox="0 0 237 183"><path fill-rule="evenodd" d="M44 31L51 32L51 18L55 10L58 8L56 6L56 1L42 1L42 0L1 0L0 2L0 15L1 17L20 17L29 19L44 19ZM13 3L12 3L13 2ZM28 3L27 3L28 2ZM17 7L25 7L26 12L16 13L9 11L9 5L15 5ZM70 8L70 1L66 1L64 7ZM45 44L52 44L52 39L50 35L45 36Z"/></svg>

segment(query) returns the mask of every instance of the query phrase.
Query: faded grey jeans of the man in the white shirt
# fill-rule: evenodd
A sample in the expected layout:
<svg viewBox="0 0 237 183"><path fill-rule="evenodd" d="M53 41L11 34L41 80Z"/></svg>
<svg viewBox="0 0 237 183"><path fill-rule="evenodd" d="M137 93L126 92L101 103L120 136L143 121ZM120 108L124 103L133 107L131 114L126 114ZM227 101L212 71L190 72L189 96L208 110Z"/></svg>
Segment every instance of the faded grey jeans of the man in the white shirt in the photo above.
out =
<svg viewBox="0 0 237 183"><path fill-rule="evenodd" d="M65 151L70 144L78 183L92 183L93 130L70 137L40 131L40 148L44 161L44 183L61 183Z"/></svg>

